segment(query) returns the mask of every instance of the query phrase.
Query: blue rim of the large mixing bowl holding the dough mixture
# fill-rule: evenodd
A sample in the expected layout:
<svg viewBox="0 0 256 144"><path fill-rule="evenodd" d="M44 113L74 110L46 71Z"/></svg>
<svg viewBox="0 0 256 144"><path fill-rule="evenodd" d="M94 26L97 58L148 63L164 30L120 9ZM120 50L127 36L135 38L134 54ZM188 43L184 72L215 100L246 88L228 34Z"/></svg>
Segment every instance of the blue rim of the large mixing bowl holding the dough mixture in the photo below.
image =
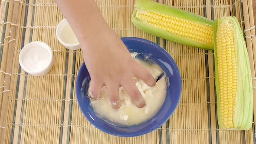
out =
<svg viewBox="0 0 256 144"><path fill-rule="evenodd" d="M176 62L175 62L174 59L171 57L171 55L170 55L165 49L163 49L161 46L159 46L158 44L156 44L156 43L154 43L154 42L151 42L151 41L149 41L149 40L147 40L147 39L142 39L142 38L138 38L138 37L121 37L121 40L135 40L135 41L141 41L141 42L144 42L144 43L149 43L149 44L153 45L155 48L160 49L160 50L164 53L164 55L167 56L167 58L170 59L171 62L173 62L174 69L176 70L177 74L179 75L179 77L178 77L179 81L178 81L177 85L180 85L180 86L179 86L180 89L179 89L179 91L178 91L178 94L179 94L179 95L178 95L178 102L177 102L177 104L175 105L174 110L169 114L169 116L168 116L162 123L159 123L156 128L148 128L148 129L146 129L145 131L140 132L140 133L127 133L127 134L123 134L123 133L118 133L118 132L110 132L110 131L108 131L108 130L105 130L105 129L103 129L103 128L98 127L97 125L95 125L94 121L91 121L90 119L87 118L87 116L85 115L84 111L82 111L82 109L81 109L81 105L80 105L79 101L77 101L77 102L78 102L78 105L79 105L79 108L80 108L80 110L82 111L82 114L85 116L85 118L86 118L92 125L94 125L96 128L98 128L99 130L101 130L101 131L103 131L103 132L105 132L105 133L107 133L107 134L111 134L111 135L118 136L118 137L135 137L135 136L140 136L140 135L143 135L143 134L147 134L147 133L152 132L152 131L154 131L155 129L159 128L159 127L160 127L161 125L163 125L163 124L171 117L171 115L174 113L174 111L176 110L177 105L179 104L179 101L180 101L180 99L181 99L181 89L182 89L182 85L181 85L181 73L180 73L180 71L179 71L179 69L178 69L178 67L177 67ZM80 69L82 69L82 67L85 67L85 63L84 63L84 62L82 63ZM78 72L78 75L77 75L77 78L76 78L76 79L80 79L80 75L81 75L80 69L79 69L79 72ZM76 81L76 85L78 85L78 81ZM80 89L79 89L77 86L75 87L75 93L76 93L76 97L77 97L77 95L81 95ZM77 99L78 99L78 98L77 98Z"/></svg>

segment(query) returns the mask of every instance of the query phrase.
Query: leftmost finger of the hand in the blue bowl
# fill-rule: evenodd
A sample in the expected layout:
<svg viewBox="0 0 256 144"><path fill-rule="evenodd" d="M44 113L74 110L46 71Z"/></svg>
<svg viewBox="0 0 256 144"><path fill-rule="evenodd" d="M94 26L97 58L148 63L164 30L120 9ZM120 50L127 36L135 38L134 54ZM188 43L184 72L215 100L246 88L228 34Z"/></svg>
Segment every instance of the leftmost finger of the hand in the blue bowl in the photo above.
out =
<svg viewBox="0 0 256 144"><path fill-rule="evenodd" d="M98 100L100 98L100 91L102 89L103 84L97 80L92 79L90 85L91 85L89 89L90 96L93 99Z"/></svg>

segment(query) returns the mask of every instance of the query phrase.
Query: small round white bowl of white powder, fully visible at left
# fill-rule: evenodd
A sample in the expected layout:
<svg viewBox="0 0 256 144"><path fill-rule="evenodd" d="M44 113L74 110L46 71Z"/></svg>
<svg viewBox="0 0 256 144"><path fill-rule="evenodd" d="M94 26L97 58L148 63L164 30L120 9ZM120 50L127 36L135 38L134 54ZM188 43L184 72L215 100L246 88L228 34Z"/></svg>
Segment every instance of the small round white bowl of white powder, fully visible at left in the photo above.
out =
<svg viewBox="0 0 256 144"><path fill-rule="evenodd" d="M45 75L53 67L53 51L46 43L31 42L20 51L19 62L28 74Z"/></svg>

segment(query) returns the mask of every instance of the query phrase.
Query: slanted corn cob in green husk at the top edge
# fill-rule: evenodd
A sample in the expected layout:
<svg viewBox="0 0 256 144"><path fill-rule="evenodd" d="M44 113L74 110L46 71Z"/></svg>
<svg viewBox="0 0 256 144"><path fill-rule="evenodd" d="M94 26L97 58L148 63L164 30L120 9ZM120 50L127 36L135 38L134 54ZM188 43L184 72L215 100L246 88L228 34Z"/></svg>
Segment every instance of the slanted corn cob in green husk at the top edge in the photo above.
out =
<svg viewBox="0 0 256 144"><path fill-rule="evenodd" d="M151 0L136 0L131 21L138 29L155 36L213 50L214 22L203 16Z"/></svg>

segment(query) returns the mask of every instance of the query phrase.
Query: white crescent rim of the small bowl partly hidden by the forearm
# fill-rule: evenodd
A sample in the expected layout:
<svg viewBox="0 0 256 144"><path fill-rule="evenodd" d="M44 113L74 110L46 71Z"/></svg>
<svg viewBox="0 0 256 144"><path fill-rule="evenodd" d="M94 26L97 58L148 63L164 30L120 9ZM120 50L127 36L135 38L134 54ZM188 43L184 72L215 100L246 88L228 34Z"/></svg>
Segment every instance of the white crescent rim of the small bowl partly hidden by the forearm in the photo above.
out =
<svg viewBox="0 0 256 144"><path fill-rule="evenodd" d="M65 46L67 49L72 49L72 50L76 50L76 49L80 49L80 45L79 43L76 43L76 44L68 44L68 43L65 43L61 36L62 36L62 30L64 28L64 26L68 25L68 21L64 18L61 22L59 22L59 25L57 26L57 29L56 29L56 36L57 36L57 39L59 40L59 42Z"/></svg>

